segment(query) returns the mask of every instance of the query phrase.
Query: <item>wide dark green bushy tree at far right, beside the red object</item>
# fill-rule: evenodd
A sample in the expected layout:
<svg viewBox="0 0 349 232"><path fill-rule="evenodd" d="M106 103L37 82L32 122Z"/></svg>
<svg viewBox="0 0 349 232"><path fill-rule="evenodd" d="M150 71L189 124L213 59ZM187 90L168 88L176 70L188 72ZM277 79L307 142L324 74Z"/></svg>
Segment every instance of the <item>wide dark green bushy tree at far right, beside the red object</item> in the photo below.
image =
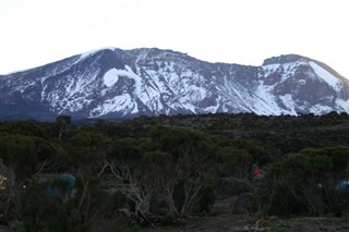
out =
<svg viewBox="0 0 349 232"><path fill-rule="evenodd" d="M288 154L280 162L267 168L261 192L256 193L263 198L260 204L268 205L266 211L284 216L321 216L334 211L344 197L335 190L338 178L346 176L346 164L339 160L347 163L348 155L344 147L306 148ZM288 197L284 197L280 204L282 196ZM341 210L347 208L348 205L341 206Z"/></svg>

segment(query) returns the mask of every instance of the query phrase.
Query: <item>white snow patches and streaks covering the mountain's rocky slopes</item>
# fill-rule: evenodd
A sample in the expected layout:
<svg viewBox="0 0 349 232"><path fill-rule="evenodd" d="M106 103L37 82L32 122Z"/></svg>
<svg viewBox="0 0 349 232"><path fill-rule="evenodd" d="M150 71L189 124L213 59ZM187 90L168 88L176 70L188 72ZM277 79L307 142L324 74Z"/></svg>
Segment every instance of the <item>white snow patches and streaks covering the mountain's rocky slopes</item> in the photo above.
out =
<svg viewBox="0 0 349 232"><path fill-rule="evenodd" d="M86 59L95 52L98 52L98 50L85 52L71 62L61 65L61 69L55 68L49 71L50 73L61 72L72 63L76 63L76 60ZM137 63L146 57L146 53L147 50L144 50L139 56L135 69L132 70L130 66L124 65L123 69L110 69L103 75L104 87L100 91L98 90L98 105L89 111L91 117L100 117L110 112L120 112L123 115L136 114L142 103L155 114L174 112L176 110L189 110L193 113L242 111L264 115L297 115L296 109L310 110L310 112L316 114L333 111L334 108L324 103L309 106L306 102L303 105L294 102L292 94L278 96L278 91L275 90L276 86L293 77L294 72L301 64L310 65L313 69L313 72L308 73L311 78L320 78L320 81L328 83L336 90L341 88L341 82L336 76L316 62L308 60L265 65L263 66L264 72L258 74L266 77L277 72L279 80L275 85L264 85L264 78L261 77L260 83L251 82L249 86L245 86L239 82L239 76L234 76L236 74L232 71L227 71L227 73L221 71L225 76L219 76L213 71L207 74L209 75L209 80L207 80L194 68L180 62L166 61L157 63L159 70L152 70ZM67 75L63 88L58 88L50 94L43 94L43 100L49 100L52 108L60 112L75 112L89 108L88 105L92 101L96 102L95 96L91 93L96 93L96 88L99 87L100 83L97 83L96 78L100 75L101 70L93 66L87 70ZM216 78L214 78L215 75L217 75ZM123 91L123 94L120 94L118 91L118 96L112 95L115 93L113 89L120 87L117 86L120 83L120 77L134 80L133 86L128 86L130 87L129 89L132 89L132 93ZM304 85L305 83L306 80L298 80L299 85ZM46 82L43 81L41 84L45 89ZM60 83L58 82L58 84ZM208 99L209 102L213 100L216 102L206 108L201 108L200 103L203 100L208 102ZM140 101L142 103L137 105ZM321 102L327 101L322 100ZM335 110L349 112L349 100L336 99Z"/></svg>

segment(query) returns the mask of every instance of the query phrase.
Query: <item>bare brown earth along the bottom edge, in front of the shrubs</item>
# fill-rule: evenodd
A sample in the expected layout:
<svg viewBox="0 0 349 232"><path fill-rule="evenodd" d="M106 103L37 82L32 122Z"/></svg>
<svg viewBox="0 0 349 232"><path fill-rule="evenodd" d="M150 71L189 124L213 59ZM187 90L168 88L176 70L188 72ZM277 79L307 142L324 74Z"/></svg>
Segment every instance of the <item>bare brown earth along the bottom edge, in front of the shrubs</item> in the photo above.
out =
<svg viewBox="0 0 349 232"><path fill-rule="evenodd" d="M232 215L229 211L234 198L218 200L212 216L188 218L177 224L142 229L143 232L348 232L349 218L309 217L256 219L248 213Z"/></svg>

